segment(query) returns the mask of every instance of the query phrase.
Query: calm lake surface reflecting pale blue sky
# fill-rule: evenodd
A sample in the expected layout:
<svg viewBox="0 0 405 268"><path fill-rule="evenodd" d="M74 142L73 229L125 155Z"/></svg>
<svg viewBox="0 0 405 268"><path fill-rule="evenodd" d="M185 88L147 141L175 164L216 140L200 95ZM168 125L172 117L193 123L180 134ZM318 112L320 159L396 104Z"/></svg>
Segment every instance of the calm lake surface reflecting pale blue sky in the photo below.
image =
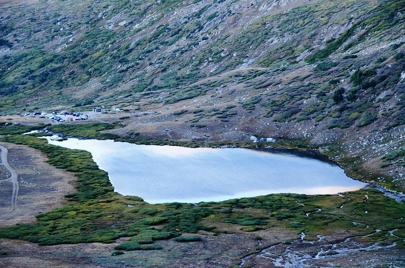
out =
<svg viewBox="0 0 405 268"><path fill-rule="evenodd" d="M285 152L46 139L91 152L116 192L148 203L198 203L275 193L337 194L367 185L347 177L336 164Z"/></svg>

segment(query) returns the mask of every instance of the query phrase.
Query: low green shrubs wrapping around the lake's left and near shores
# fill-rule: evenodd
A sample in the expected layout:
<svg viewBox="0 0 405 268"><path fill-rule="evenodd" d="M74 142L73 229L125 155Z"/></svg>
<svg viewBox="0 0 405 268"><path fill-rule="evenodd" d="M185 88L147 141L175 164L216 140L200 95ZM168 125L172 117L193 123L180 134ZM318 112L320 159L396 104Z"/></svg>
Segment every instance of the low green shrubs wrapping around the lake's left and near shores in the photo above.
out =
<svg viewBox="0 0 405 268"><path fill-rule="evenodd" d="M113 127L84 126L81 131ZM32 129L43 127L31 126ZM13 132L13 128L18 126L2 125L0 130ZM98 133L97 130L95 133ZM112 243L120 237L128 237L127 241L115 246L118 251L112 254L118 255L129 250L161 249L159 240L200 241L200 236L183 235L200 230L221 234L271 231L281 226L291 228L297 234L305 232L305 239L309 241L316 240L316 235L328 235L339 230L347 231L351 236L360 236L380 229L382 232L364 239L385 244L396 242L397 247L405 247L403 205L373 188L344 193L344 196L275 194L200 202L197 206L186 203L148 204L140 197L115 193L108 174L98 168L89 152L49 145L46 140L35 136L7 135L1 140L38 149L48 157L51 165L73 172L77 177L77 192L65 196L67 205L37 215L35 224L0 230L3 238L55 245ZM105 137L101 133L99 138ZM237 228L229 229L227 225ZM388 232L392 230L395 230L395 236Z"/></svg>

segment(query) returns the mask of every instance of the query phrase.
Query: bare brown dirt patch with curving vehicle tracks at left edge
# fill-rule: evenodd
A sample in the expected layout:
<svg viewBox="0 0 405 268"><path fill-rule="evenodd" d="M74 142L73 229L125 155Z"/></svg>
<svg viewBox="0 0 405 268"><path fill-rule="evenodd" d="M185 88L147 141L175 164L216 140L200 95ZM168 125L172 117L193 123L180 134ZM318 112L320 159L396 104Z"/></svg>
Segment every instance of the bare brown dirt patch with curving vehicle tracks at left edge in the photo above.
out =
<svg viewBox="0 0 405 268"><path fill-rule="evenodd" d="M0 228L35 222L35 215L62 206L64 195L76 191L73 174L48 164L38 150L4 142L0 145L9 150L9 164L16 169L19 183L17 206L11 210L12 184L0 181ZM5 169L0 169L0 178L6 178Z"/></svg>

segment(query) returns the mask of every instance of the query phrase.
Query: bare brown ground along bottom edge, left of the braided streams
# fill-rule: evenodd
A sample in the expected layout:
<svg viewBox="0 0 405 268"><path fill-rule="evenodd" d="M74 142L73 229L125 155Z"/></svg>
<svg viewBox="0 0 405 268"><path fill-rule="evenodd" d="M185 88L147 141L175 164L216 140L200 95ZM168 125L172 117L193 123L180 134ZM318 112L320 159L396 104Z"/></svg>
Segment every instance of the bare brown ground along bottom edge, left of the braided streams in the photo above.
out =
<svg viewBox="0 0 405 268"><path fill-rule="evenodd" d="M179 243L173 240L156 241L162 250L129 251L111 256L113 244L73 244L38 246L33 243L0 239L1 267L229 267L238 264L240 257L256 251L261 236L263 246L291 239L296 234L287 230L259 231L245 234L200 232L203 241ZM275 237L276 236L276 237Z"/></svg>

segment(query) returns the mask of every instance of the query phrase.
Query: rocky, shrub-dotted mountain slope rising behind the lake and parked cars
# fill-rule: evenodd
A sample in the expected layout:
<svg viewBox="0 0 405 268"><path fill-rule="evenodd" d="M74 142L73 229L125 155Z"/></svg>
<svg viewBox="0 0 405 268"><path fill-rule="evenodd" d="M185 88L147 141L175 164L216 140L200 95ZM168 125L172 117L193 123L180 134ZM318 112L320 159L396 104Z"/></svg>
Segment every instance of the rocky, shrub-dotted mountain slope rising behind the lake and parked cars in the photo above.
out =
<svg viewBox="0 0 405 268"><path fill-rule="evenodd" d="M3 115L103 106L133 111L120 136L303 139L404 187L404 0L0 8Z"/></svg>

